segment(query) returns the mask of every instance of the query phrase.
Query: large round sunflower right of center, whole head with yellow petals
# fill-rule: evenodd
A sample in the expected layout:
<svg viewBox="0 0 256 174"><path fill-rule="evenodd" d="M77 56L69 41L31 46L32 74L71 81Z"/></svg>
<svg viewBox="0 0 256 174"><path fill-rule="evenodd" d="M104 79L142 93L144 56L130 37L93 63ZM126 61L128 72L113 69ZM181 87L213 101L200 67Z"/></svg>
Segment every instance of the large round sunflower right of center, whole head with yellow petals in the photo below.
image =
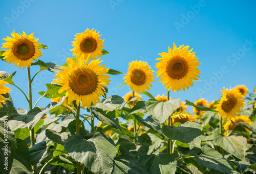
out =
<svg viewBox="0 0 256 174"><path fill-rule="evenodd" d="M193 86L192 80L198 80L200 78L200 71L197 66L200 62L195 54L188 50L189 46L179 48L174 44L173 50L168 47L168 53L160 53L161 58L157 58L160 62L156 63L157 77L161 76L159 82L163 81L165 88L173 92L180 91L181 88L185 91L185 87L188 89L189 85ZM183 48L182 48L183 47Z"/></svg>

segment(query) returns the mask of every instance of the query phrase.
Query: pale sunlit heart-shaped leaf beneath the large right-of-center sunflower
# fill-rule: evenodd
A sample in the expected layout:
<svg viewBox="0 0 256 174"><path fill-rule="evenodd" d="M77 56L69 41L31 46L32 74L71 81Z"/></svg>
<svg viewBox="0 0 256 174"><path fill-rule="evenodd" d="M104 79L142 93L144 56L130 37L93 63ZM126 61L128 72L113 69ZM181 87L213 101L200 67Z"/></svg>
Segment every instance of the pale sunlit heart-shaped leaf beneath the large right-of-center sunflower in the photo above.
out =
<svg viewBox="0 0 256 174"><path fill-rule="evenodd" d="M180 99L173 98L169 101L149 99L146 102L147 111L156 117L162 124L177 108L180 107Z"/></svg>

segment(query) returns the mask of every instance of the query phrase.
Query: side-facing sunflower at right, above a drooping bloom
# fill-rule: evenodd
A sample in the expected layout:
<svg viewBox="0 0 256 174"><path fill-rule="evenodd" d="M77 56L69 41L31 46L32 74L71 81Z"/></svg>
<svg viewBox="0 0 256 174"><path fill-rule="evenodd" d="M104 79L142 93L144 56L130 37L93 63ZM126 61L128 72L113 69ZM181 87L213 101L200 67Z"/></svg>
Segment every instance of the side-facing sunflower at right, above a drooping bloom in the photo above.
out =
<svg viewBox="0 0 256 174"><path fill-rule="evenodd" d="M230 90L221 90L222 97L218 104L216 104L216 110L219 111L223 119L230 119L235 117L239 112L240 107L243 107L244 100L239 90L230 88Z"/></svg>

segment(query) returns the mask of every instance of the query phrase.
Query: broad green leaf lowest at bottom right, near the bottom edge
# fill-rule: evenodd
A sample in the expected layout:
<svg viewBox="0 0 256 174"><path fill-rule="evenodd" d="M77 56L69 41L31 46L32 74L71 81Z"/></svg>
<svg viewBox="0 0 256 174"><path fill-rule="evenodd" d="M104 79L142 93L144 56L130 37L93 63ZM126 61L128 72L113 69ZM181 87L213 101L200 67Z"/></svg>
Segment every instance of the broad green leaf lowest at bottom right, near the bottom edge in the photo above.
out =
<svg viewBox="0 0 256 174"><path fill-rule="evenodd" d="M195 159L197 160L198 164L226 173L232 173L232 170L234 170L233 165L225 158L223 158L223 156L215 149L202 146L202 151L202 155L198 156L195 154Z"/></svg>

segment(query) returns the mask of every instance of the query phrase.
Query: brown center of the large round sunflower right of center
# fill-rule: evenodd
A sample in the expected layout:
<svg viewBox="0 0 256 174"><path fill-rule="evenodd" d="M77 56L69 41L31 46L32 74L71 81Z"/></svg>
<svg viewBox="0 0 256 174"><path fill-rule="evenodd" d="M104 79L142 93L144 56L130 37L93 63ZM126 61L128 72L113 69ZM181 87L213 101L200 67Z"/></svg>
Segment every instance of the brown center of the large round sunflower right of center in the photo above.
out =
<svg viewBox="0 0 256 174"><path fill-rule="evenodd" d="M172 59L167 62L166 72L170 78L181 79L188 72L187 61L181 56L172 57Z"/></svg>

